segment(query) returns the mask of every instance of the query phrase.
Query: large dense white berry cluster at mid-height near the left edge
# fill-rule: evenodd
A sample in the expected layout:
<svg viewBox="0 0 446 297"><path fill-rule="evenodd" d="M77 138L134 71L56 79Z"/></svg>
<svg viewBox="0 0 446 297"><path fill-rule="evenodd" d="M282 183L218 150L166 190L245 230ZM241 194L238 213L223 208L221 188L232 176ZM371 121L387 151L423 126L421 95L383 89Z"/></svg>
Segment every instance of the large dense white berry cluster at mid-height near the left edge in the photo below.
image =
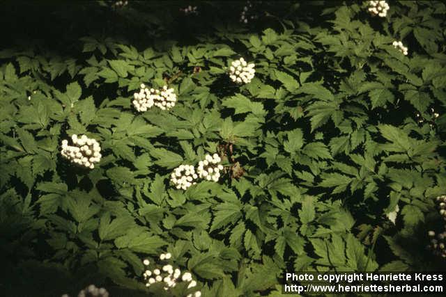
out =
<svg viewBox="0 0 446 297"><path fill-rule="evenodd" d="M62 141L61 154L72 163L95 168L94 163L98 163L102 155L100 154L100 145L93 138L82 135L79 138L76 134L71 136L73 145L68 145L67 140Z"/></svg>

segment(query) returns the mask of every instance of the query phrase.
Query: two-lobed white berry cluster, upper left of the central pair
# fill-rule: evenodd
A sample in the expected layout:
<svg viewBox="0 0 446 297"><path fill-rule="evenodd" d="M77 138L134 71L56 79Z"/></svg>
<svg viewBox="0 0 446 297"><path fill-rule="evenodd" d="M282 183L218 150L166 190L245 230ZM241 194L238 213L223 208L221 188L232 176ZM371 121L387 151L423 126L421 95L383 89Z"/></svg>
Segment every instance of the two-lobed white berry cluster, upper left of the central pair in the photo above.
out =
<svg viewBox="0 0 446 297"><path fill-rule="evenodd" d="M146 88L144 83L141 83L141 90L139 90L139 93L134 93L133 97L132 103L137 111L147 111L152 106L157 106L164 111L174 107L176 102L176 94L173 88L164 86L159 90L149 89Z"/></svg>

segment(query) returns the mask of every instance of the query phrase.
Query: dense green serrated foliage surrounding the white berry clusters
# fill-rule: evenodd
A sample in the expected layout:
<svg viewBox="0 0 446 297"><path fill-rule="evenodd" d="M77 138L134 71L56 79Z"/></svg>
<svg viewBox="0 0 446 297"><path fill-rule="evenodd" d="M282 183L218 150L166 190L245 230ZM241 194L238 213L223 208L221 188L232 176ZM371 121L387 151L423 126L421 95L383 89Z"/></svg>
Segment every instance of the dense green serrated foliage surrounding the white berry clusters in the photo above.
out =
<svg viewBox="0 0 446 297"><path fill-rule="evenodd" d="M146 296L141 259L166 251L203 296L278 296L285 271L444 271L426 250L446 192L444 3L254 3L240 24L243 2L36 2L1 12L0 295ZM138 113L141 83L176 106ZM61 157L72 134L100 143L93 170ZM219 182L169 183L215 152Z"/></svg>

